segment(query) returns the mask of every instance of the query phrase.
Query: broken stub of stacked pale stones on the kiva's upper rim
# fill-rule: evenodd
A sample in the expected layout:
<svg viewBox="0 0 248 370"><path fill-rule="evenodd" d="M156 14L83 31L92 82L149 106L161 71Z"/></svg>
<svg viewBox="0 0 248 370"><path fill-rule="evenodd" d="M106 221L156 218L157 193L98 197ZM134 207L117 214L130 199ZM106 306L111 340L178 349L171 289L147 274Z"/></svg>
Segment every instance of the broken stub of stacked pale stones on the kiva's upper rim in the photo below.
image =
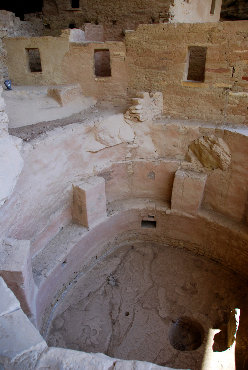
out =
<svg viewBox="0 0 248 370"><path fill-rule="evenodd" d="M132 103L124 116L127 119L151 121L160 117L163 112L163 95L159 91L152 91L150 94L144 91L137 92Z"/></svg>

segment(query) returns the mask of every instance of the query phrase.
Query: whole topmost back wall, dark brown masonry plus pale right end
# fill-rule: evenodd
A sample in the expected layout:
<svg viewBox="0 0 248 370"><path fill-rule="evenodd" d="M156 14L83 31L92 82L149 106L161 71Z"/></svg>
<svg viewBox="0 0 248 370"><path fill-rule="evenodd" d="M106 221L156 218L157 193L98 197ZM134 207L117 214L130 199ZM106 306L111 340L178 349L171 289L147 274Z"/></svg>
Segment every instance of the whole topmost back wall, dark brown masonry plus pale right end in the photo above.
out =
<svg viewBox="0 0 248 370"><path fill-rule="evenodd" d="M124 30L135 30L139 24L219 21L221 10L221 0L80 0L76 9L75 4L74 0L44 0L44 34L59 36L69 24L81 28L91 23L104 27L104 40L120 41Z"/></svg>

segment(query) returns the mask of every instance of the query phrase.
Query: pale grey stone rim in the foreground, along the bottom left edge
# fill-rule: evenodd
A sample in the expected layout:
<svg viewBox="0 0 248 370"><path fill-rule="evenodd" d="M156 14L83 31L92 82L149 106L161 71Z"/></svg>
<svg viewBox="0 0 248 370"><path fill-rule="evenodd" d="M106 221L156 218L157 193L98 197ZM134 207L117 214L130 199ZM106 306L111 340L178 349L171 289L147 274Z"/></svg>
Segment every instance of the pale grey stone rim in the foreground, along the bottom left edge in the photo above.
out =
<svg viewBox="0 0 248 370"><path fill-rule="evenodd" d="M7 238L8 243L13 239ZM102 353L89 354L61 348L47 348L46 342L20 309L20 304L0 277L0 361L6 370L35 369L139 369L170 370L144 361L113 359ZM37 361L38 360L38 361Z"/></svg>

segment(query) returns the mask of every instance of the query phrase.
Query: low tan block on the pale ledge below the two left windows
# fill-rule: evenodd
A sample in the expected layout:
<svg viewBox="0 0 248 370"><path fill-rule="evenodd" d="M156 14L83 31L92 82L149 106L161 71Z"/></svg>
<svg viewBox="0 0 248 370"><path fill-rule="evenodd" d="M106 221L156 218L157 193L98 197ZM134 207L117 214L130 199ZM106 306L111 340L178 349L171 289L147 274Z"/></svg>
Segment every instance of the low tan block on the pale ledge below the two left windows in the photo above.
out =
<svg viewBox="0 0 248 370"><path fill-rule="evenodd" d="M61 107L66 107L81 94L81 91L80 84L51 86L47 90L47 95L56 99Z"/></svg>

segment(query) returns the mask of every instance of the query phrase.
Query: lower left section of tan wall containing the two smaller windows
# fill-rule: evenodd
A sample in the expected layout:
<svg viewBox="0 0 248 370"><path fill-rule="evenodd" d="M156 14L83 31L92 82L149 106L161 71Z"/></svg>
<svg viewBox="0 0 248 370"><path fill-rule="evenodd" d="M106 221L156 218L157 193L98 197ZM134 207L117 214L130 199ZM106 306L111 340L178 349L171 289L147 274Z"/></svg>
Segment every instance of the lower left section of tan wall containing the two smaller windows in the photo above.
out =
<svg viewBox="0 0 248 370"><path fill-rule="evenodd" d="M127 64L121 41L70 42L70 30L62 37L18 37L6 40L9 73L19 85L80 83L83 95L99 100L125 98ZM41 71L30 71L29 49L38 49ZM111 76L95 75L95 51L109 51Z"/></svg>

